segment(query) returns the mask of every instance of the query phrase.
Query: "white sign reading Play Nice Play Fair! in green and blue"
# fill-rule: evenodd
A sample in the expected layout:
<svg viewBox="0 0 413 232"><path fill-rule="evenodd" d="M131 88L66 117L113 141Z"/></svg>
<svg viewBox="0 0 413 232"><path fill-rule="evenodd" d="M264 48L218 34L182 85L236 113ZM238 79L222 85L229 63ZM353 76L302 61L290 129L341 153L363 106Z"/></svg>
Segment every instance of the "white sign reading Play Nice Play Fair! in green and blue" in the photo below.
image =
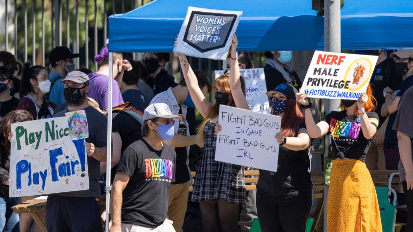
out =
<svg viewBox="0 0 413 232"><path fill-rule="evenodd" d="M89 189L84 139L69 136L68 117L11 124L10 197Z"/></svg>

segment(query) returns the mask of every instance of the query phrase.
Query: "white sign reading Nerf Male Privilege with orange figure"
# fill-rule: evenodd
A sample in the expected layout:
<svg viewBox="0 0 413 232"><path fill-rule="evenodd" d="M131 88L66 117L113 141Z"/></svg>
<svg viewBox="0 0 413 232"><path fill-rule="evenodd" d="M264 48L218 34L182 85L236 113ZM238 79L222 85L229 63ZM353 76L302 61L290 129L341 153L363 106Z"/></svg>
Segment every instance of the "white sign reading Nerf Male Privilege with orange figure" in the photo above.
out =
<svg viewBox="0 0 413 232"><path fill-rule="evenodd" d="M377 58L316 51L300 92L310 98L357 100L366 92Z"/></svg>

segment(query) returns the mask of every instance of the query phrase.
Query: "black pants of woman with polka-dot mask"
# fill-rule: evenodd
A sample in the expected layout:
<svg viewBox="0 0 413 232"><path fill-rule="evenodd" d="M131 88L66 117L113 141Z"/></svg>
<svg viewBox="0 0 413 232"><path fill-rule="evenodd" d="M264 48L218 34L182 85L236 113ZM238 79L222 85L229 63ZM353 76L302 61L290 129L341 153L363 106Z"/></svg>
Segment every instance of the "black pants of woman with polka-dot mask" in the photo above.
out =
<svg viewBox="0 0 413 232"><path fill-rule="evenodd" d="M263 232L305 232L312 191L269 196L257 190L257 213Z"/></svg>

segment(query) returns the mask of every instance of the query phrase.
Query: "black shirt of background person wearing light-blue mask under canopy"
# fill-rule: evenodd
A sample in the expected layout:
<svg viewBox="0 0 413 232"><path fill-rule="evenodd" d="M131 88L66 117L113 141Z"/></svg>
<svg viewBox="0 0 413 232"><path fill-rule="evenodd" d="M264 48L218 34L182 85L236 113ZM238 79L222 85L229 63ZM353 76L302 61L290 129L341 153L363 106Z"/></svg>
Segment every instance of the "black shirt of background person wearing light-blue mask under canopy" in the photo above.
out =
<svg viewBox="0 0 413 232"><path fill-rule="evenodd" d="M289 68L284 68L284 70L289 74L291 78L291 83L296 89L300 89L302 82L298 77L297 73ZM264 66L265 82L267 85L267 91L272 91L275 87L281 83L287 82L282 74L271 65L266 64Z"/></svg>

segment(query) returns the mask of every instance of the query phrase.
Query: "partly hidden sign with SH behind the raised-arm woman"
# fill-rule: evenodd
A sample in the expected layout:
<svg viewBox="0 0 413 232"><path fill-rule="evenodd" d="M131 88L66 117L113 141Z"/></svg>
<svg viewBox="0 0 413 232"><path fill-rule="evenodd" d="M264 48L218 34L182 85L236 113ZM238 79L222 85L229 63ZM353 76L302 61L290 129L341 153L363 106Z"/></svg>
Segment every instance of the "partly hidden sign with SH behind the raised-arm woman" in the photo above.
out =
<svg viewBox="0 0 413 232"><path fill-rule="evenodd" d="M216 70L215 79L223 73L222 70ZM270 114L270 104L268 96L265 94L267 93L267 85L264 68L241 69L240 74L245 80L245 96L250 110Z"/></svg>

